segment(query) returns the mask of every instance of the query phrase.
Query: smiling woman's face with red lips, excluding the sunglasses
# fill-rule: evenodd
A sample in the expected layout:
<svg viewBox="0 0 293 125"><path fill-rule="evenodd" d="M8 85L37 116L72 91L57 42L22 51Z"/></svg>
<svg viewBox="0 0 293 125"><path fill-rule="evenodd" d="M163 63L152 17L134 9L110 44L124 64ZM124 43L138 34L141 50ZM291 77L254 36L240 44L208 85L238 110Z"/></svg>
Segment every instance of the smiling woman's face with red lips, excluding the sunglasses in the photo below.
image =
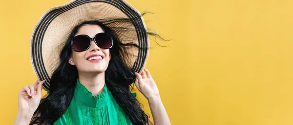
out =
<svg viewBox="0 0 293 125"><path fill-rule="evenodd" d="M104 30L100 26L84 25L79 29L75 36L87 35L93 38L98 33L104 33ZM97 59L89 58L93 55L94 58ZM92 40L89 49L86 51L75 52L72 50L72 56L69 58L68 62L71 65L75 65L80 73L102 73L107 69L110 59L111 55L109 49L99 48L95 41Z"/></svg>

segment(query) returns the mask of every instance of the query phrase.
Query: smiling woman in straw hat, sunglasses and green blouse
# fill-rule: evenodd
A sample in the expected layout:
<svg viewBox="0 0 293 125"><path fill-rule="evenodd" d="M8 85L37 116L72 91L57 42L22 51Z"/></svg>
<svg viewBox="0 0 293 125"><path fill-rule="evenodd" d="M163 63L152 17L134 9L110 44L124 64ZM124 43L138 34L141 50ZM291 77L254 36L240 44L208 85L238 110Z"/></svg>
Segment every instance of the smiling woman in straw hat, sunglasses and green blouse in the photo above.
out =
<svg viewBox="0 0 293 125"><path fill-rule="evenodd" d="M124 0L72 0L48 10L32 35L38 80L21 89L15 125L152 125L129 89L133 82L154 125L170 125L144 69L148 35L157 35L141 16ZM42 88L49 92L41 99Z"/></svg>

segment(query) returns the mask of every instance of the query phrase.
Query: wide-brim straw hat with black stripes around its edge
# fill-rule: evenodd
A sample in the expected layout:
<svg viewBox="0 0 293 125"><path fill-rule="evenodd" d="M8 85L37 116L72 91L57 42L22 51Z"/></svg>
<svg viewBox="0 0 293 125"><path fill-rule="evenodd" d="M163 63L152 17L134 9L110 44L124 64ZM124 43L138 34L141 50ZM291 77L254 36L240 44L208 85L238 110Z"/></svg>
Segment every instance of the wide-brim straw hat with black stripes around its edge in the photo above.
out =
<svg viewBox="0 0 293 125"><path fill-rule="evenodd" d="M141 48L149 48L146 24L140 12L126 0L71 0L47 10L34 27L30 55L33 71L38 81L45 80L43 89L50 90L50 78L60 64L59 54L73 28L84 21L104 18L136 18L107 24L122 43L136 43ZM123 30L123 29L132 30ZM134 36L129 38L128 36ZM128 47L123 58L126 66L141 72L146 65L149 49ZM122 55L124 56L124 55Z"/></svg>

